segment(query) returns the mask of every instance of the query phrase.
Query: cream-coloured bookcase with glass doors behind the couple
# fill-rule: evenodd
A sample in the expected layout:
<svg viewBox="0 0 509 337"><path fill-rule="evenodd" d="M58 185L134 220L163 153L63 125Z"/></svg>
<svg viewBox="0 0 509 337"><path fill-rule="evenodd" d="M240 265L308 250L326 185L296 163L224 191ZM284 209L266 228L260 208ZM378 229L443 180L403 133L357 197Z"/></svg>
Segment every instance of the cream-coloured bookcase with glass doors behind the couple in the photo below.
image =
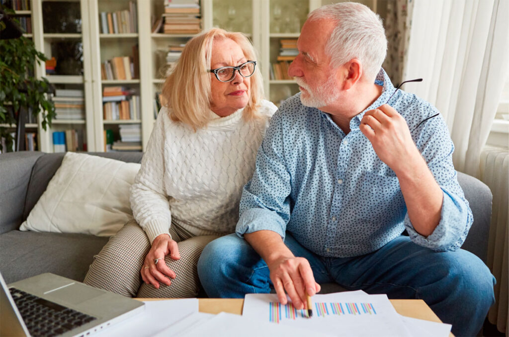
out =
<svg viewBox="0 0 509 337"><path fill-rule="evenodd" d="M298 92L294 80L270 77L270 64L277 62L280 40L297 39L307 13L322 6L322 2L337 1L201 0L201 28L219 26L246 34L259 51L265 95L279 104L281 100ZM377 10L377 0L360 2ZM185 44L193 34L175 31L165 34L163 24L159 31L153 31L155 21L165 12L164 0L32 0L30 5L30 9L20 9L16 14L30 18L30 36L36 48L48 58L57 58L57 65L67 63L66 67L59 68L60 71L54 74L47 73L44 64L36 65L36 76L45 76L56 89L81 91L80 99L74 97L74 101L64 100L64 106L78 106L78 101L81 101L83 109L82 118L57 118L47 131L42 129L39 122L27 124L26 127L31 127L27 132L38 132L38 149L53 152L52 133L73 129L81 134L78 150L100 152L104 151L106 137L110 138L112 134L114 140L118 141L121 129L132 136L131 128L138 128L141 133L140 151L145 150L155 122L154 102L157 93L161 91L167 70L168 46L177 48ZM102 17L104 14L101 13L117 13L118 18L124 18L124 21L130 19L129 29L124 26L120 31L118 27L117 31L111 33L108 26L106 32ZM60 23L60 28L51 28L48 22ZM62 27L64 22L65 29ZM58 58L62 56L55 46L77 49L80 53L78 60L59 61ZM133 46L137 46L137 55ZM136 56L137 62L134 62ZM135 76L120 77L123 79L104 77L101 70L104 62L118 57L130 58ZM122 88L130 93L128 96L137 96L138 114L129 119L105 118L103 94L107 88ZM82 144L87 146L83 147Z"/></svg>

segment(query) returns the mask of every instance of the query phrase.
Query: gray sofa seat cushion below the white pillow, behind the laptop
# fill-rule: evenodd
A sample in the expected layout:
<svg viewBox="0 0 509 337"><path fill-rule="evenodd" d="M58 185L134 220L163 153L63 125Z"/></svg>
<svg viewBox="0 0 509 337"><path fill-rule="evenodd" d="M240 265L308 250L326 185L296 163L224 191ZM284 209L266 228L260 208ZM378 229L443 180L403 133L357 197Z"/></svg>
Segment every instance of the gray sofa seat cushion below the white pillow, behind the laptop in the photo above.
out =
<svg viewBox="0 0 509 337"><path fill-rule="evenodd" d="M10 231L0 235L0 271L7 283L50 272L82 282L107 237Z"/></svg>

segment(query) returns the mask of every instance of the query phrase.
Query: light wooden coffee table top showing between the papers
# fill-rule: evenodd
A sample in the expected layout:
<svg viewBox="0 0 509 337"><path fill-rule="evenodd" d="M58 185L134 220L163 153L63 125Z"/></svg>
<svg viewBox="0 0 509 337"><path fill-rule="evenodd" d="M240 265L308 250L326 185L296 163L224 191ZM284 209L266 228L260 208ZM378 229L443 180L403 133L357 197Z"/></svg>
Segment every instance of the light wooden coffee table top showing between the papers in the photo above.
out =
<svg viewBox="0 0 509 337"><path fill-rule="evenodd" d="M136 298L140 301L154 301L164 298ZM390 302L394 309L401 315L419 318L432 322L442 321L431 310L428 304L421 299L391 299ZM243 298L199 298L199 311L202 313L219 314L220 312L242 315ZM454 337L453 333L449 333L449 337Z"/></svg>

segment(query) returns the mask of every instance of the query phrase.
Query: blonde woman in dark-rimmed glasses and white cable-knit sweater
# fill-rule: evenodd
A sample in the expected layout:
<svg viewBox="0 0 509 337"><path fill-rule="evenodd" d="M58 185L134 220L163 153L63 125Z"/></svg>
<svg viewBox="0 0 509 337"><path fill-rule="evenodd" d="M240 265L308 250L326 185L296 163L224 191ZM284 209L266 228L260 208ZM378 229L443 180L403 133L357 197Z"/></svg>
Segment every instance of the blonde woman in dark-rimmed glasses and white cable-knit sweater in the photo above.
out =
<svg viewBox="0 0 509 337"><path fill-rule="evenodd" d="M255 54L242 34L221 29L186 44L131 187L134 220L95 257L86 284L125 296L197 295L196 263L208 242L234 232L276 110L263 99Z"/></svg>

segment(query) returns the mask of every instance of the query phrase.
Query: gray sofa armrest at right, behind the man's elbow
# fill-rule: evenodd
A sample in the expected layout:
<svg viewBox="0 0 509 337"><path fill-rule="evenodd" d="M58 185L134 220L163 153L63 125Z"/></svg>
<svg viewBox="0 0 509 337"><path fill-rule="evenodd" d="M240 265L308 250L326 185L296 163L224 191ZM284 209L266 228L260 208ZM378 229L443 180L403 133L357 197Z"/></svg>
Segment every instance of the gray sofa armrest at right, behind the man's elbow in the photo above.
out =
<svg viewBox="0 0 509 337"><path fill-rule="evenodd" d="M472 227L461 248L470 251L486 263L493 195L486 184L464 173L458 172L458 182L463 188L474 217Z"/></svg>

